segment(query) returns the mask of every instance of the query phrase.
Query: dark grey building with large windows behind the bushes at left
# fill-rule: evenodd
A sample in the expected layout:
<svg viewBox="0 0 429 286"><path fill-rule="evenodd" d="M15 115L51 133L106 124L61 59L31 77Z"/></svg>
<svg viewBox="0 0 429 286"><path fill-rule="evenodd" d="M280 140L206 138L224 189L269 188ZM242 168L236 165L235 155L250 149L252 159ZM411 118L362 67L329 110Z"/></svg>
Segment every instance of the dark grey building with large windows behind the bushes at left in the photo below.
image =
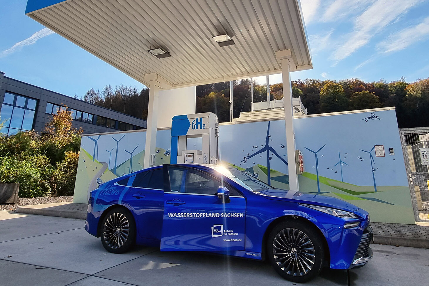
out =
<svg viewBox="0 0 429 286"><path fill-rule="evenodd" d="M82 127L84 134L146 128L146 120L8 78L0 72L2 135L32 129L41 132L52 114L62 108L72 111L73 125Z"/></svg>

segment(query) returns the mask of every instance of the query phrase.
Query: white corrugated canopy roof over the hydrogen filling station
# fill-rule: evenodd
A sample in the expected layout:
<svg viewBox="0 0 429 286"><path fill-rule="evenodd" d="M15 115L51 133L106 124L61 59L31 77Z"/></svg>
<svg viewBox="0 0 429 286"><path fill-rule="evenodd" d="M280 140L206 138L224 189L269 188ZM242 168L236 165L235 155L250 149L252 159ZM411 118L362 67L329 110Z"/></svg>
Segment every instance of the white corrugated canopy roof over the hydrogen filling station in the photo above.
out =
<svg viewBox="0 0 429 286"><path fill-rule="evenodd" d="M292 71L312 68L298 0L28 0L26 13L146 85L151 73L170 88L280 73L286 49Z"/></svg>

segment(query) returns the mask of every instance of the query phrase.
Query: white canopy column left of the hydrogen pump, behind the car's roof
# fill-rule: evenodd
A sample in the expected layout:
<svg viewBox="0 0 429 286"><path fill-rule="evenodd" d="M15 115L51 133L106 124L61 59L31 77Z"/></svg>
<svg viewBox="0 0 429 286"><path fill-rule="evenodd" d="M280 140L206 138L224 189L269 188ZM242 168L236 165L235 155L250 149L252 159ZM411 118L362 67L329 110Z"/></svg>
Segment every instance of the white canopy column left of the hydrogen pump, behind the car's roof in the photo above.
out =
<svg viewBox="0 0 429 286"><path fill-rule="evenodd" d="M149 106L148 123L146 127L146 144L144 168L151 166L151 155L155 154L157 142L157 122L158 122L158 104L159 104L160 83L155 80L150 81L149 85Z"/></svg>

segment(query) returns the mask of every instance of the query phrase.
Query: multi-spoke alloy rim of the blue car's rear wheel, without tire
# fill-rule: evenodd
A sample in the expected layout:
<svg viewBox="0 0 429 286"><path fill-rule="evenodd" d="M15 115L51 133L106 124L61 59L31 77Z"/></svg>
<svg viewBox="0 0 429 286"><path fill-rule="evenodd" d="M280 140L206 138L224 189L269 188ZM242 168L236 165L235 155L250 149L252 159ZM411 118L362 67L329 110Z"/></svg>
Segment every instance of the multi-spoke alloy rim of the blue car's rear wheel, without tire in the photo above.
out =
<svg viewBox="0 0 429 286"><path fill-rule="evenodd" d="M130 235L130 223L124 214L111 214L103 227L103 238L112 249L122 247Z"/></svg>

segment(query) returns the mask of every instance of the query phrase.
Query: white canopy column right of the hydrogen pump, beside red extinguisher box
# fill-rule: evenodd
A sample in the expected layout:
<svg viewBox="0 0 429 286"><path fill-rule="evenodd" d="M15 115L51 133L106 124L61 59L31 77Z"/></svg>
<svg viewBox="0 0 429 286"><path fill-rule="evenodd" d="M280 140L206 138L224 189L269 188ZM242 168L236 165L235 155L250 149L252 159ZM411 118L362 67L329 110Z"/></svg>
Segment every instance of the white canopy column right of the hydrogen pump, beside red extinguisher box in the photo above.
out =
<svg viewBox="0 0 429 286"><path fill-rule="evenodd" d="M286 128L287 170L289 174L289 190L298 191L298 176L296 175L295 132L293 129L292 86L290 82L290 58L281 59L284 98L284 125Z"/></svg>

